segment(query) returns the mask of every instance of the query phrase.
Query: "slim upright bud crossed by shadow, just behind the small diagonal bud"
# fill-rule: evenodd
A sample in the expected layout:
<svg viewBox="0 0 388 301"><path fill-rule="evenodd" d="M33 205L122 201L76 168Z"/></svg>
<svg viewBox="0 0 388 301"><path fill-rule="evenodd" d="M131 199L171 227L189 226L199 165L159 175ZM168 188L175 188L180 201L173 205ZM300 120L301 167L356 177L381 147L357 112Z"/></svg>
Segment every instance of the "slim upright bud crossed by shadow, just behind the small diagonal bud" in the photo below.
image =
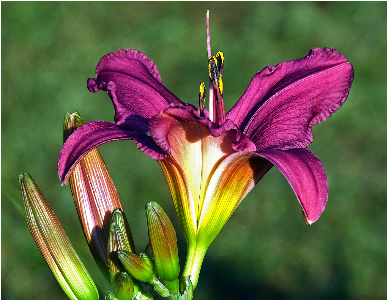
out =
<svg viewBox="0 0 388 301"><path fill-rule="evenodd" d="M114 292L116 291L116 284L120 273L125 272L117 252L120 250L128 251L128 249L128 244L126 244L126 241L123 238L120 227L116 223L111 223L108 237L108 266Z"/></svg>

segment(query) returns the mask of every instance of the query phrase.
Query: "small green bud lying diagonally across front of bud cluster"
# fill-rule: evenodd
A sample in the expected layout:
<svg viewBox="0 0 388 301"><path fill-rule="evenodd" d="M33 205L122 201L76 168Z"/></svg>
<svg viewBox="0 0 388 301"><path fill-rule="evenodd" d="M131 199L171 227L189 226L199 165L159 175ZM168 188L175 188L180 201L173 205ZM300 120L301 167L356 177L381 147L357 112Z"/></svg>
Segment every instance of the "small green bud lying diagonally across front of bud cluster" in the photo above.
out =
<svg viewBox="0 0 388 301"><path fill-rule="evenodd" d="M118 251L117 255L128 273L137 280L142 282L151 282L151 280L155 277L151 266L149 266L148 263L139 255L125 250Z"/></svg>

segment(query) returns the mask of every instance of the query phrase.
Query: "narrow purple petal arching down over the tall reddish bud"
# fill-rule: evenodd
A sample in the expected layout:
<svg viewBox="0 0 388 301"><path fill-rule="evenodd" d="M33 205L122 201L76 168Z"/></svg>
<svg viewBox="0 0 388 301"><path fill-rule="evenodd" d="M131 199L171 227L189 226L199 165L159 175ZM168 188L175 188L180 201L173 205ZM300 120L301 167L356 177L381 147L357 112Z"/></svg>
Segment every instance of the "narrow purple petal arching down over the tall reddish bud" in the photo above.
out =
<svg viewBox="0 0 388 301"><path fill-rule="evenodd" d="M164 159L166 156L145 134L127 131L115 123L91 121L77 128L64 143L58 160L59 178L63 183L68 183L74 167L83 156L101 144L122 139L134 139L138 148L154 159Z"/></svg>

